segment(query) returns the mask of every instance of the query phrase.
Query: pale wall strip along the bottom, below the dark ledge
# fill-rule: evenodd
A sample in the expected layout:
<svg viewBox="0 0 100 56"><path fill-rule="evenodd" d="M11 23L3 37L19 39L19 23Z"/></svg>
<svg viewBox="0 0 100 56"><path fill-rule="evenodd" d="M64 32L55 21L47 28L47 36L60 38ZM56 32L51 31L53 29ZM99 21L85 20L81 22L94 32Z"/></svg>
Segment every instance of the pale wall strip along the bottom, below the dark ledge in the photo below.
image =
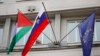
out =
<svg viewBox="0 0 100 56"><path fill-rule="evenodd" d="M92 49L91 56L100 56L100 47ZM0 56L7 56L6 53L0 53ZM21 56L21 52L13 52L10 56ZM30 51L27 56L82 56L82 49L64 49L51 51Z"/></svg>

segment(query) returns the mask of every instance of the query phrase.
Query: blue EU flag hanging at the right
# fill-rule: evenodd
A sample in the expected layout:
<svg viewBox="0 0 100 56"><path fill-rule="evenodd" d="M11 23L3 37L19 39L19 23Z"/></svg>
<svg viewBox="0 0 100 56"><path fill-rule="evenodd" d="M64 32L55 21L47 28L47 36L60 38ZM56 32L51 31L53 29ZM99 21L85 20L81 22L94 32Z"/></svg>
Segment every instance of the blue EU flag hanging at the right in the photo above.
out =
<svg viewBox="0 0 100 56"><path fill-rule="evenodd" d="M92 13L78 27L83 49L83 56L90 56L93 42L95 13Z"/></svg>

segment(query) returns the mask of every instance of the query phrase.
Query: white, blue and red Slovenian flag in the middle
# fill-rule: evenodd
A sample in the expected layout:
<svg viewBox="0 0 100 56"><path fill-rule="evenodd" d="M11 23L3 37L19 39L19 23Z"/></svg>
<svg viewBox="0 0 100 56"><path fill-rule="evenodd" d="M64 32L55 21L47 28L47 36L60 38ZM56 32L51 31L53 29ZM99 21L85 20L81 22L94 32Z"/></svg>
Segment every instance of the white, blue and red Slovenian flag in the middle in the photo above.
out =
<svg viewBox="0 0 100 56"><path fill-rule="evenodd" d="M39 14L36 17L36 20L34 21L31 34L29 36L29 39L23 49L22 56L26 56L28 51L31 49L32 45L35 43L41 32L46 28L49 21L46 16L46 12L44 8L39 12Z"/></svg>

